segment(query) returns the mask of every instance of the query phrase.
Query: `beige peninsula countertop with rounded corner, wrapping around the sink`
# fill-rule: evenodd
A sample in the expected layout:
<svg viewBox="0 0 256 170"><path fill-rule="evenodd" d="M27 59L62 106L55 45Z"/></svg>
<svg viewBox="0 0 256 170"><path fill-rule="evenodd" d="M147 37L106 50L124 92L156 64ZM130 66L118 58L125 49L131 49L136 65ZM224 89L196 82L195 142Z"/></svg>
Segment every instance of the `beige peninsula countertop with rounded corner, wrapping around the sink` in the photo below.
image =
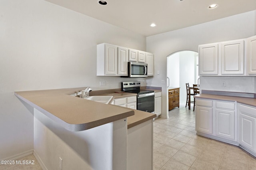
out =
<svg viewBox="0 0 256 170"><path fill-rule="evenodd" d="M60 123L70 131L81 131L127 117L128 128L153 119L155 114L115 105L70 96L85 89L53 89L39 91L19 91L14 94L46 116ZM136 96L134 93L102 93L114 98ZM111 103L111 101L110 101Z"/></svg>

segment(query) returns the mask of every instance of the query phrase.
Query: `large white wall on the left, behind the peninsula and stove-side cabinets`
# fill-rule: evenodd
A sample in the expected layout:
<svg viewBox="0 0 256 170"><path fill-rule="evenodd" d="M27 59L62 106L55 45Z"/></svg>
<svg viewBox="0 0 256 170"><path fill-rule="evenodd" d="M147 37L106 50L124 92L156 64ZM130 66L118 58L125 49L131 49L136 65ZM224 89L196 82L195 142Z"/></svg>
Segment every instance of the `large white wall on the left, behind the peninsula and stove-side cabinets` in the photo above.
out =
<svg viewBox="0 0 256 170"><path fill-rule="evenodd" d="M33 109L14 91L120 88L128 79L96 76L96 45L146 50L144 36L44 0L1 0L0 18L0 160L33 149Z"/></svg>

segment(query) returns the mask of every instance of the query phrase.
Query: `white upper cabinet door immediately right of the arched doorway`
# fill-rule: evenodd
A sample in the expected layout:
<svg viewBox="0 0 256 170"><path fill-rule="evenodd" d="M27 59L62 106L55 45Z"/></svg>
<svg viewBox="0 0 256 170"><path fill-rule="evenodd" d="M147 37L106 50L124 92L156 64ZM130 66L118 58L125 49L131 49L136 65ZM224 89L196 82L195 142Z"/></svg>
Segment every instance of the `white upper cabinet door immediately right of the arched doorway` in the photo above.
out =
<svg viewBox="0 0 256 170"><path fill-rule="evenodd" d="M199 74L218 75L218 43L199 45Z"/></svg>

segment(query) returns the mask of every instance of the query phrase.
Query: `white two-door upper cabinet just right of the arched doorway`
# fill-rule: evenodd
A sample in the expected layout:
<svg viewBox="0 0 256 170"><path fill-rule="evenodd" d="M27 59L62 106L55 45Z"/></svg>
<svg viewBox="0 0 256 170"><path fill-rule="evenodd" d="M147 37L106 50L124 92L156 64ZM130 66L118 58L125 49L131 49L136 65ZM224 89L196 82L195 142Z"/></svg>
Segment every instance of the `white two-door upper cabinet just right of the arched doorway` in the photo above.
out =
<svg viewBox="0 0 256 170"><path fill-rule="evenodd" d="M246 75L244 40L199 45L200 75Z"/></svg>

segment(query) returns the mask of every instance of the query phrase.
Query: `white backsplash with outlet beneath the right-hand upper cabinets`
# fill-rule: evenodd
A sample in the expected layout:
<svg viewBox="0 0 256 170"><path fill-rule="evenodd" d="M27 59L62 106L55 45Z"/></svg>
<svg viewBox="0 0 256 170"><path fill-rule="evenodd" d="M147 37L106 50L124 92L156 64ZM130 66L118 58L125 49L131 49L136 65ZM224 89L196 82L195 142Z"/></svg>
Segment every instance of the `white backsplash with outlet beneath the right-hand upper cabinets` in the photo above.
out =
<svg viewBox="0 0 256 170"><path fill-rule="evenodd" d="M256 77L245 76L200 76L200 90L256 93L255 80Z"/></svg>

